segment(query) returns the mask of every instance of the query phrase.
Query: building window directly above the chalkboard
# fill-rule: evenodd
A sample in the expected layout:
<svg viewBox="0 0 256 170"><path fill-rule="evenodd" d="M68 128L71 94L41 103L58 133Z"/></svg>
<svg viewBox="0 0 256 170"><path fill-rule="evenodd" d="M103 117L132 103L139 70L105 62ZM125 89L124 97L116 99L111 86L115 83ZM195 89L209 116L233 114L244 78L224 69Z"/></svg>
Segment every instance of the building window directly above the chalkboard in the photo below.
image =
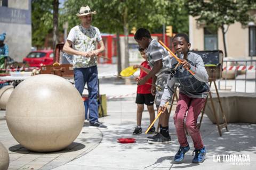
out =
<svg viewBox="0 0 256 170"><path fill-rule="evenodd" d="M204 28L204 50L218 49L218 28L211 26Z"/></svg>

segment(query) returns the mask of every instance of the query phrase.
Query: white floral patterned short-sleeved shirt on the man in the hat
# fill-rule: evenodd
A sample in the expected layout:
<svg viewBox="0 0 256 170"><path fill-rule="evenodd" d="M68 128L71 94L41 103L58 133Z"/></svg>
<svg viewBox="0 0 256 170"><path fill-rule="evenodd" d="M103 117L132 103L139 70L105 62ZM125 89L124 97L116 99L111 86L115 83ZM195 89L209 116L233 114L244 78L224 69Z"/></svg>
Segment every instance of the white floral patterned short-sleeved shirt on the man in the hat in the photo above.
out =
<svg viewBox="0 0 256 170"><path fill-rule="evenodd" d="M73 27L69 34L68 40L72 41L73 49L81 52L90 52L96 48L97 41L101 41L100 30L97 27L90 26L84 28L82 25ZM97 58L73 55L74 68L87 68L97 65Z"/></svg>

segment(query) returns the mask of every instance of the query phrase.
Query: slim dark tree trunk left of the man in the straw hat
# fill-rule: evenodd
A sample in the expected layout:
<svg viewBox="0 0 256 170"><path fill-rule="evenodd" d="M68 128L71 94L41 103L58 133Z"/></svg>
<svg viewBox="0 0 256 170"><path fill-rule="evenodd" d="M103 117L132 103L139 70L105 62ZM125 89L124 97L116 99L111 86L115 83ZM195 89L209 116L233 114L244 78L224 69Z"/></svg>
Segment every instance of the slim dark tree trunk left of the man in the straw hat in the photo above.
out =
<svg viewBox="0 0 256 170"><path fill-rule="evenodd" d="M53 50L58 44L58 17L59 17L59 0L53 0Z"/></svg>

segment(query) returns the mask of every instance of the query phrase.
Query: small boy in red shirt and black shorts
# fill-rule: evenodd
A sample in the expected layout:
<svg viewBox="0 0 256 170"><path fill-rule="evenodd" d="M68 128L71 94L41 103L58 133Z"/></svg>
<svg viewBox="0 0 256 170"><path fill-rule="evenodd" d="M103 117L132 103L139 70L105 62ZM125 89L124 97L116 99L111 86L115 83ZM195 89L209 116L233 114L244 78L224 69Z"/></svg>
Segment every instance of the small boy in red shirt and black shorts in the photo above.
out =
<svg viewBox="0 0 256 170"><path fill-rule="evenodd" d="M135 80L142 79L150 72L150 66L148 65L147 56L145 54L145 50L142 48L139 48L141 56L145 59L144 62L142 62L140 65L134 65L133 68L140 68L140 76L138 78L135 78ZM147 105L149 116L150 116L150 124L155 119L155 111L154 111L154 100L155 96L151 94L151 83L152 78L149 79L145 84L138 85L137 87L137 97L135 103L137 103L137 126L134 129L133 134L140 134L142 132L141 128L141 118L142 118L142 112L144 111L144 104ZM148 133L154 133L155 127L152 126Z"/></svg>

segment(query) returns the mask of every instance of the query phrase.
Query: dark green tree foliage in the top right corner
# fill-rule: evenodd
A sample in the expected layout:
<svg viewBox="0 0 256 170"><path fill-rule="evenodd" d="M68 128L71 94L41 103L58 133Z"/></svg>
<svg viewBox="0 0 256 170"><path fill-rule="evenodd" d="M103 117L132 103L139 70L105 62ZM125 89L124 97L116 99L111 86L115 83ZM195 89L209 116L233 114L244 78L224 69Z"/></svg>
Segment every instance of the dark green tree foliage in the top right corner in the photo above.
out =
<svg viewBox="0 0 256 170"><path fill-rule="evenodd" d="M255 2L245 0L192 0L188 1L189 14L199 16L198 22L214 24L217 27L230 25L237 22L247 24L253 21L249 11L252 10Z"/></svg>

